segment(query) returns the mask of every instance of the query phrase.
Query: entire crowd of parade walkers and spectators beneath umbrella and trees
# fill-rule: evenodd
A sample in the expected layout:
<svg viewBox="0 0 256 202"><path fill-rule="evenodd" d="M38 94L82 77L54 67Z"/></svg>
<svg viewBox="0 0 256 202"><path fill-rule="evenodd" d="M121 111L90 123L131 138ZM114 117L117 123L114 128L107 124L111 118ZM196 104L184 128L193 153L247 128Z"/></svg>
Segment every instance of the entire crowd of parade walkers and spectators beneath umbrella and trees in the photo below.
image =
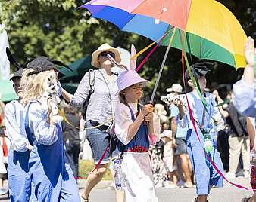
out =
<svg viewBox="0 0 256 202"><path fill-rule="evenodd" d="M167 89L164 103L141 102L149 81L135 70L133 45L130 66L121 63L116 48L98 47L92 53L97 69L86 72L74 95L61 87L55 60L16 63L10 80L18 99L0 102L0 194L8 192L3 187L8 179L11 201L89 201L109 164L117 201L157 202L155 187L164 186L195 187L193 201L206 202L212 187L223 186L224 170L227 179L239 170L248 178L250 164L255 188L254 51L248 38L244 76L226 97L206 88L212 63L190 66L189 104L180 84ZM81 150L95 168L79 194Z"/></svg>

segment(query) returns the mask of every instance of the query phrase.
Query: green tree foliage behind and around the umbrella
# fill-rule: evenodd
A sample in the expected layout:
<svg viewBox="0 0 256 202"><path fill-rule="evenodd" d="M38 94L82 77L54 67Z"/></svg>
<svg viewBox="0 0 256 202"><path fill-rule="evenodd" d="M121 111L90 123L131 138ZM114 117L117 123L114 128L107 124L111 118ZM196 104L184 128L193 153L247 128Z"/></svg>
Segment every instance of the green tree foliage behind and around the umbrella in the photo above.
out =
<svg viewBox="0 0 256 202"><path fill-rule="evenodd" d="M102 20L90 18L85 9L78 9L88 1L82 0L0 0L2 12L0 23L5 23L10 40L11 51L17 60L27 57L46 55L64 63L79 60L86 54L92 54L100 44L108 42L114 46L130 50L135 44L137 50L151 43L148 38L120 32L116 26ZM235 14L247 35L255 38L255 0L220 1ZM155 81L166 47L158 47L139 73L150 81ZM138 63L147 52L138 58ZM193 62L197 62L193 58ZM229 75L228 77L226 75ZM82 78L83 75L80 75ZM209 75L209 84L233 83L239 74L230 66L215 63L214 71ZM157 98L173 82L182 84L181 51L170 49ZM154 82L148 90L150 95Z"/></svg>

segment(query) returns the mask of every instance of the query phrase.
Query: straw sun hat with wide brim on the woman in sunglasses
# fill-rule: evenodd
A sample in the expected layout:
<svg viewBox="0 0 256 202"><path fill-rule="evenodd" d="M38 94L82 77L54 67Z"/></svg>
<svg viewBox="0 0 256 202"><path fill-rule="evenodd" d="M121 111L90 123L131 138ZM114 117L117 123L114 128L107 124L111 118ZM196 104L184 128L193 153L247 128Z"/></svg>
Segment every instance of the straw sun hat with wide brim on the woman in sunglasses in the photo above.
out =
<svg viewBox="0 0 256 202"><path fill-rule="evenodd" d="M109 44L105 43L105 44L102 44L100 47L98 47L98 49L92 53L92 63L91 63L92 66L100 68L98 63L98 56L99 54L101 54L101 52L105 52L105 51L113 52L115 55L114 60L116 60L117 63L121 62L120 53L117 50L117 48L111 47Z"/></svg>

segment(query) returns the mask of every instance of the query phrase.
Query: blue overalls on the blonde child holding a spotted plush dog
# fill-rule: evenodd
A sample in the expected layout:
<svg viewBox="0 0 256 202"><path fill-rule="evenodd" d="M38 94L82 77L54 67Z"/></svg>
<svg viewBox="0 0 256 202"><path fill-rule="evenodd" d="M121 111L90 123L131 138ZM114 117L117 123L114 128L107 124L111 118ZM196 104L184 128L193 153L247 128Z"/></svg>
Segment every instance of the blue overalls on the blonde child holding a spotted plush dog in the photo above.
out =
<svg viewBox="0 0 256 202"><path fill-rule="evenodd" d="M30 105L30 103L29 103ZM30 145L36 140L29 127L29 109L25 112L25 130ZM58 139L52 145L33 145L29 158L31 179L39 202L80 201L76 181L64 155L59 124Z"/></svg>

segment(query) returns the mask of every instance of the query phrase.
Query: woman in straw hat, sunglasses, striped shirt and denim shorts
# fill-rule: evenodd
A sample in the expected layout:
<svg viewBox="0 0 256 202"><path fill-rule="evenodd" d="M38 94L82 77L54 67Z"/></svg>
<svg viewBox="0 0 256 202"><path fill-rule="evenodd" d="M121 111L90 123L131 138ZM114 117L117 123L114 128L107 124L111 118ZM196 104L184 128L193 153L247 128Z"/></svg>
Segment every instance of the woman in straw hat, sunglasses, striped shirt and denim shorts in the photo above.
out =
<svg viewBox="0 0 256 202"><path fill-rule="evenodd" d="M108 59L108 54L120 63L120 53L117 48L111 47L109 44L102 44L92 53L92 66L98 68L94 70L94 92L89 95L90 86L89 81L90 72L86 72L83 79L74 95L62 90L62 96L69 102L71 106L82 106L85 101L88 101L86 109L86 138L92 148L92 155L97 168L89 173L86 179L85 189L81 195L83 201L89 201L89 194L92 188L101 181L104 176L110 153L105 152L110 142L110 135L107 129L111 124L111 118L114 118L114 109L118 99L117 75L111 72L113 67L111 61ZM89 96L89 100L87 100ZM98 127L101 125L100 127ZM93 128L92 127L96 127ZM104 155L105 154L105 155ZM104 156L104 157L103 157ZM112 157L117 156L117 150L112 153ZM100 164L98 162L103 158ZM123 194L116 192L117 201L123 201Z"/></svg>

